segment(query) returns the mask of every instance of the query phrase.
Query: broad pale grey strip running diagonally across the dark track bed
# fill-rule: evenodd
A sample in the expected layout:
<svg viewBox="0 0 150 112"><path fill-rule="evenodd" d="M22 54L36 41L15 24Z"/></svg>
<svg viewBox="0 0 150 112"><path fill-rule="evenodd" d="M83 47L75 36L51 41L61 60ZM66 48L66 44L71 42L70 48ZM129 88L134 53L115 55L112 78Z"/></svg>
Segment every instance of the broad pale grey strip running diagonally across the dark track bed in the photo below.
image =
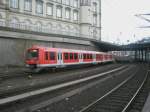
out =
<svg viewBox="0 0 150 112"><path fill-rule="evenodd" d="M61 89L61 88L65 88L65 87L68 87L68 86L76 85L76 84L79 84L79 83L83 83L83 82L86 82L86 81L104 76L106 74L119 71L119 70L121 70L125 67L126 66L122 66L122 67L119 67L119 68L116 68L116 69L113 69L113 70L110 70L110 71L107 71L107 72L104 72L104 73L100 73L100 74L97 74L97 75L94 75L94 76L90 76L90 77L82 78L82 79L79 79L79 80L74 80L74 81L70 81L70 82L66 82L66 83L62 83L62 84L58 84L58 85L54 85L54 86L50 86L50 87L46 87L46 88L42 88L42 89L30 91L30 92L26 92L26 93L19 94L19 95L10 96L10 97L7 97L7 98L2 98L2 99L0 99L0 105L15 102L17 100L22 100L22 99L29 98L29 97L32 97L32 96L36 96L36 95L39 95L39 94L43 94L43 93L46 93L46 92L51 92L51 91L58 90L58 89Z"/></svg>

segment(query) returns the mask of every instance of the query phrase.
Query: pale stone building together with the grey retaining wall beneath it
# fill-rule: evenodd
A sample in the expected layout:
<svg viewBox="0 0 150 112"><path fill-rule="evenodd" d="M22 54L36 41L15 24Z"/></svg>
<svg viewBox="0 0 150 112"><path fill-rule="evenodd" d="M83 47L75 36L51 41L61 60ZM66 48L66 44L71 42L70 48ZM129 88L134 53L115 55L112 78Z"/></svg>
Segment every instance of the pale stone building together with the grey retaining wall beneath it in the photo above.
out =
<svg viewBox="0 0 150 112"><path fill-rule="evenodd" d="M0 66L24 66L32 45L98 50L100 0L0 0Z"/></svg>

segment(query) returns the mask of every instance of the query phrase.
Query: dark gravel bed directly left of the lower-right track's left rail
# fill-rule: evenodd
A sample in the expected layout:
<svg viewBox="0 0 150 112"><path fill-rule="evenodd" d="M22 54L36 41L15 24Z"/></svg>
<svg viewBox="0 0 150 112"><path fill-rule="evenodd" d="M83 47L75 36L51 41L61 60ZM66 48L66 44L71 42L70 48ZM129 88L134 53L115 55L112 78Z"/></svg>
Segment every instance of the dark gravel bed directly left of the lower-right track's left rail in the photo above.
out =
<svg viewBox="0 0 150 112"><path fill-rule="evenodd" d="M118 73L115 73L112 78L106 80L103 83L99 83L96 86L89 88L79 94L76 94L69 98L65 98L62 101L53 103L52 105L36 110L34 112L48 112L47 110L50 110L50 112L78 112L84 106L103 96L105 93L110 91L112 88L114 88L116 85L121 83L123 80L125 80L135 72L137 72L135 71L135 67L132 67L132 69L129 69L123 73L120 71Z"/></svg>

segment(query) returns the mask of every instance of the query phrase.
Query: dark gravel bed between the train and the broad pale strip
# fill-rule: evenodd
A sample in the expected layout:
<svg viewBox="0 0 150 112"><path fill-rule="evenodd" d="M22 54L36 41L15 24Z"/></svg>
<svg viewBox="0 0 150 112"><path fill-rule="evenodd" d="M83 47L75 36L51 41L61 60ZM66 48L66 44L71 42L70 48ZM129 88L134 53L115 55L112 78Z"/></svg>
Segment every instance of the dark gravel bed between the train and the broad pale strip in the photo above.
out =
<svg viewBox="0 0 150 112"><path fill-rule="evenodd" d="M23 93L33 89L38 89L45 86L54 85L57 83L63 83L74 79L80 79L92 74L102 73L109 69L114 69L121 66L120 64L110 64L104 66L98 66L96 68L91 67L77 70L70 70L68 72L58 73L44 73L40 75L34 74L34 76L26 77L14 77L7 80L3 80L0 83L0 95L2 97Z"/></svg>

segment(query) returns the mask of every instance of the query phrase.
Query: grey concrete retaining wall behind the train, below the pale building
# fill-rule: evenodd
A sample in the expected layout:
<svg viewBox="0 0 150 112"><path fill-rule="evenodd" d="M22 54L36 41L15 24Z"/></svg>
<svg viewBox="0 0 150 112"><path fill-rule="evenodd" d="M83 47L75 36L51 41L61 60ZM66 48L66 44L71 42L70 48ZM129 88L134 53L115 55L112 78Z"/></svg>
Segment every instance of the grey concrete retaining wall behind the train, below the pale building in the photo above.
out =
<svg viewBox="0 0 150 112"><path fill-rule="evenodd" d="M24 66L25 51L32 45L81 50L98 50L94 46L41 40L0 38L0 67Z"/></svg>

